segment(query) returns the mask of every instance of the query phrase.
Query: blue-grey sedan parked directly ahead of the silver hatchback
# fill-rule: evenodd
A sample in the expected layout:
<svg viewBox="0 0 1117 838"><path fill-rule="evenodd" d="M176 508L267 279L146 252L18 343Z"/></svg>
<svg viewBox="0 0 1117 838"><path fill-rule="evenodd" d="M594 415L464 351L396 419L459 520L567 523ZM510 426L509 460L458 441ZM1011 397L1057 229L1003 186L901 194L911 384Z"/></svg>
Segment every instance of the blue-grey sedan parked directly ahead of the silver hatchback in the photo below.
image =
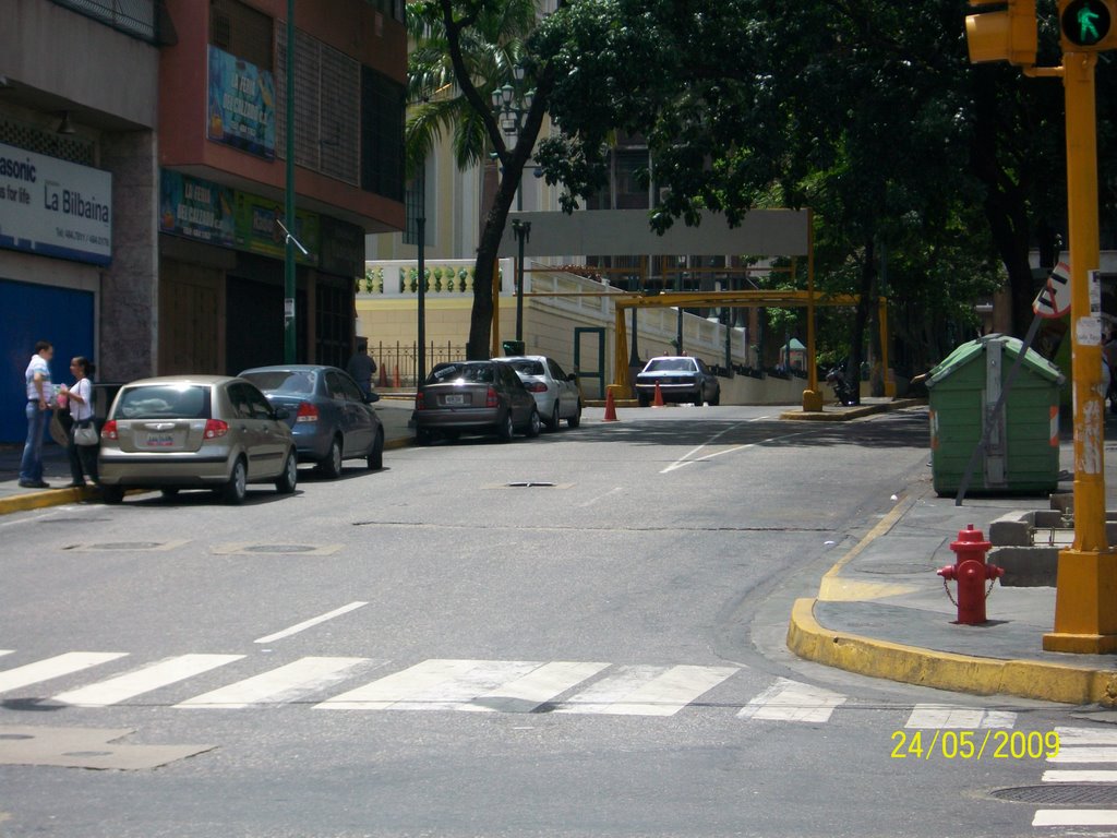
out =
<svg viewBox="0 0 1117 838"><path fill-rule="evenodd" d="M343 460L384 466L384 428L365 396L344 370L319 364L254 366L240 378L256 384L275 407L286 408L298 459L315 463L326 477L342 473Z"/></svg>

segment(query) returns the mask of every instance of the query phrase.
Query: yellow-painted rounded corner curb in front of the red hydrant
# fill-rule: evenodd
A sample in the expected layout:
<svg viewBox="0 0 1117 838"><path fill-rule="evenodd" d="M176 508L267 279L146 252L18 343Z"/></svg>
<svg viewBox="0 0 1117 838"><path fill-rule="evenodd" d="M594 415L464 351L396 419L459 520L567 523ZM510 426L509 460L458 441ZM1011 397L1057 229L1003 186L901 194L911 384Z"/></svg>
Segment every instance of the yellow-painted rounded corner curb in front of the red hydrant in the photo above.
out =
<svg viewBox="0 0 1117 838"><path fill-rule="evenodd" d="M905 684L975 695L1004 693L1063 704L1117 704L1117 672L999 660L836 632L814 619L814 598L795 600L787 648L824 666Z"/></svg>

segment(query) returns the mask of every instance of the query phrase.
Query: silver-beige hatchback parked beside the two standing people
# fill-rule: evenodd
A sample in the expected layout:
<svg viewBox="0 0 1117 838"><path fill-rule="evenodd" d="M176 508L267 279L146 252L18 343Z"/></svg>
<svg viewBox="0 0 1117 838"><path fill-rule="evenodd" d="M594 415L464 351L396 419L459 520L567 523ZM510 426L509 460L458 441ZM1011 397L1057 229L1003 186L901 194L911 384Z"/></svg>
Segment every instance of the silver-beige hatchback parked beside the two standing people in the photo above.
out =
<svg viewBox="0 0 1117 838"><path fill-rule="evenodd" d="M287 411L255 384L227 375L170 375L121 388L101 431L102 496L128 488L211 488L228 503L249 483L295 491L298 455Z"/></svg>

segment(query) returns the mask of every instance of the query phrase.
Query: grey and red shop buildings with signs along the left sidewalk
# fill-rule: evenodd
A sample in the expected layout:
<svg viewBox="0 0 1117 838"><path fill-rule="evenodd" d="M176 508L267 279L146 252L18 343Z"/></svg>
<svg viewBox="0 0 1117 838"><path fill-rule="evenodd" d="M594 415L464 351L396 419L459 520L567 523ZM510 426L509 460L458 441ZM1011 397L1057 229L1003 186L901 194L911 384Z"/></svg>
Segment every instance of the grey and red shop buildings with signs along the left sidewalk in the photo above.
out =
<svg viewBox="0 0 1117 838"><path fill-rule="evenodd" d="M344 363L364 237L403 228L402 0L9 0L0 29L0 440L35 342L102 381Z"/></svg>

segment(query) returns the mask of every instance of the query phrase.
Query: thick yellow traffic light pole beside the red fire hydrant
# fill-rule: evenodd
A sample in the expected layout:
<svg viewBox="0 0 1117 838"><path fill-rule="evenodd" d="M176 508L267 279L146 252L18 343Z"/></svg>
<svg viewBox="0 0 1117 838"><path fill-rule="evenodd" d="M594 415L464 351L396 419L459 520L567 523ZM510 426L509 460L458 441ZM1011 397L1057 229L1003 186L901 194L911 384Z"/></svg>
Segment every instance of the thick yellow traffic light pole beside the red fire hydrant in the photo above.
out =
<svg viewBox="0 0 1117 838"><path fill-rule="evenodd" d="M1070 232L1071 379L1075 399L1075 543L1059 553L1049 651L1117 651L1117 553L1106 540L1098 265L1097 56L1063 54Z"/></svg>

